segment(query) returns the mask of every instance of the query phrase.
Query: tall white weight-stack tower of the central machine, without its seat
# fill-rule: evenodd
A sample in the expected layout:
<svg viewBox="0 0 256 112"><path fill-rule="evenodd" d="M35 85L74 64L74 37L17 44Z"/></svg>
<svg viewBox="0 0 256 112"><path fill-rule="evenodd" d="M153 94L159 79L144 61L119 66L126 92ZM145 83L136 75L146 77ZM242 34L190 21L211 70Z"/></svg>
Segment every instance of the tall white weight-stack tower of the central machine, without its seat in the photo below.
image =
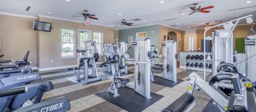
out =
<svg viewBox="0 0 256 112"><path fill-rule="evenodd" d="M150 38L136 38L134 46L134 90L146 98L150 96L151 60Z"/></svg>

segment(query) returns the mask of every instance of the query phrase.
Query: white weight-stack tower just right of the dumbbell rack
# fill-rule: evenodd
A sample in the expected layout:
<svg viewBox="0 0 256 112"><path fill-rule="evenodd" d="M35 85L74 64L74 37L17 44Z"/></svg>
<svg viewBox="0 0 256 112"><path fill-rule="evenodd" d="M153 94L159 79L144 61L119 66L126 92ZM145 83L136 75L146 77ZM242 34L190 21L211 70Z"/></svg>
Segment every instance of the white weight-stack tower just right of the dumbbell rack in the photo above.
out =
<svg viewBox="0 0 256 112"><path fill-rule="evenodd" d="M213 44L212 44L212 58L213 61L212 73L217 73L217 67L220 62L233 64L233 32L228 37L230 31L219 29L212 31Z"/></svg>

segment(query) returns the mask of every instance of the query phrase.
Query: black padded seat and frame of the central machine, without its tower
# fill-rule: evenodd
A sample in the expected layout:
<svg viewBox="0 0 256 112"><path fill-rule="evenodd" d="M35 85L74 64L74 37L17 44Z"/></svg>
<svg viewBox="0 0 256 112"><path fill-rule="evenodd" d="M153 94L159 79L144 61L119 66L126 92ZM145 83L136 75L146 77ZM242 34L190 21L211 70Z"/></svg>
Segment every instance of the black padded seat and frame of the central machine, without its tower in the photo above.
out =
<svg viewBox="0 0 256 112"><path fill-rule="evenodd" d="M122 59L122 56L121 56L121 59ZM126 78L120 78L120 74L119 74L119 69L117 70L119 76L116 78L115 76L115 69L114 69L114 65L119 65L118 67L120 68L123 68L123 62L121 61L120 64L119 64L119 60L110 60L110 61L105 61L105 64L106 65L111 65L111 68L112 68L112 83L111 83L111 86L108 88L107 92L109 93L113 93L114 97L116 96L119 96L118 94L118 86L121 85L126 85L130 80L129 79L126 79Z"/></svg>

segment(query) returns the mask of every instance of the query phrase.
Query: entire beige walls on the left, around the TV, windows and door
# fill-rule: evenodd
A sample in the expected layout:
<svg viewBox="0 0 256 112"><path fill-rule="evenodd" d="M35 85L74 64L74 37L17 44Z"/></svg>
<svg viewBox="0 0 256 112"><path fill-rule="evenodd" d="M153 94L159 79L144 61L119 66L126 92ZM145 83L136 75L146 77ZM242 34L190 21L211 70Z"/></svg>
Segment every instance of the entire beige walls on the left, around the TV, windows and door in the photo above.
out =
<svg viewBox="0 0 256 112"><path fill-rule="evenodd" d="M34 20L52 23L52 31L33 30ZM82 23L64 20L48 18L31 19L0 14L0 37L2 37L2 50L0 50L0 54L4 54L0 60L12 59L14 61L22 61L26 52L30 50L28 61L34 62L31 67L49 68L77 65L77 54L75 58L61 58L61 28L76 30L76 43L78 29L102 32L103 44L112 42L114 34L115 38L118 38L118 30L114 33L114 29L110 27L84 26ZM53 63L51 63L51 60L53 60ZM103 60L104 57L101 56L100 61Z"/></svg>

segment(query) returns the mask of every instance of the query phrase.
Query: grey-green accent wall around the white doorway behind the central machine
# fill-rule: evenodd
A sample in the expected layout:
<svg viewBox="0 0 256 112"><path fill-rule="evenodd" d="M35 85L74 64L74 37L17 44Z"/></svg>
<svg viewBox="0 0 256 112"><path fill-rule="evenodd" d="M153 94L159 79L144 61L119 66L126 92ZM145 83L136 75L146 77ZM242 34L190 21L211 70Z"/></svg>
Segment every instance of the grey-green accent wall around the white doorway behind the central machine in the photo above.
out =
<svg viewBox="0 0 256 112"><path fill-rule="evenodd" d="M131 36L133 36L133 38L135 39L137 32L147 32L147 37L151 39L151 45L159 46L158 45L159 44L159 37L158 37L159 25L152 25L152 26L139 27L139 28L120 29L119 40L121 42L128 42L128 37L131 37ZM134 47L131 47L128 50L128 52L130 57L134 58Z"/></svg>

